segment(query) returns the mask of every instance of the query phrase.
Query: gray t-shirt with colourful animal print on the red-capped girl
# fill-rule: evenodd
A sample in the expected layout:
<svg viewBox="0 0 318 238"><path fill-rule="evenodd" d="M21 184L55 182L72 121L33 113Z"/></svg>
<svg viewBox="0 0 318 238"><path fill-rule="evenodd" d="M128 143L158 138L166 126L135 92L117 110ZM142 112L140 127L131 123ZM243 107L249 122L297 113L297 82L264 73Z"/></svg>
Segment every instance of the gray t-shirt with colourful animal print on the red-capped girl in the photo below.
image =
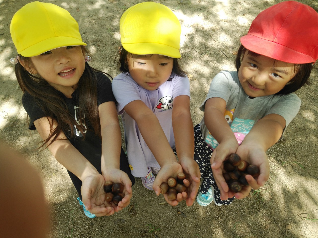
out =
<svg viewBox="0 0 318 238"><path fill-rule="evenodd" d="M236 71L221 71L213 78L208 95L200 106L202 111L204 111L205 102L212 97L219 97L225 100L226 110L224 116L239 144L244 140L253 125L268 114L274 113L284 117L286 129L301 106L301 100L294 93L249 98L239 82ZM205 142L211 149L215 149L218 142L206 128L204 117L200 128ZM280 140L283 138L283 134Z"/></svg>

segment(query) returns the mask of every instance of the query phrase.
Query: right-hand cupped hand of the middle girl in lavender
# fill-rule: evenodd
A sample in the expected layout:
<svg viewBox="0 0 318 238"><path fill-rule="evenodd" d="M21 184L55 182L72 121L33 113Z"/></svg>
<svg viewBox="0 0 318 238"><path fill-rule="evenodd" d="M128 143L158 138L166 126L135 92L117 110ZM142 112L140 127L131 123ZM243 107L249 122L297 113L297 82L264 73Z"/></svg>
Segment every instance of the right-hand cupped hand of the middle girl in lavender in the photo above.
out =
<svg viewBox="0 0 318 238"><path fill-rule="evenodd" d="M200 187L200 169L197 162L193 158L182 159L181 166L183 168L183 173L186 175L187 180L190 182L188 187L188 198L186 199L187 206L191 206L194 199L197 196L197 191Z"/></svg>

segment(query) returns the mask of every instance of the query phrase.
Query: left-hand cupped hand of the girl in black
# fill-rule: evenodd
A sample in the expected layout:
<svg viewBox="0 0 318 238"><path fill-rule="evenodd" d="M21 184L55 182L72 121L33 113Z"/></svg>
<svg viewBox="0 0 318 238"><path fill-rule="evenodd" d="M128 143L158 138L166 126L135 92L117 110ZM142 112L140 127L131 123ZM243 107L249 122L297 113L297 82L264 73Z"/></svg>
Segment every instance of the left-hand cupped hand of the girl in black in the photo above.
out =
<svg viewBox="0 0 318 238"><path fill-rule="evenodd" d="M105 202L105 179L101 174L87 176L82 184L81 193L86 210L96 216L110 216L114 214L114 208L109 202Z"/></svg>

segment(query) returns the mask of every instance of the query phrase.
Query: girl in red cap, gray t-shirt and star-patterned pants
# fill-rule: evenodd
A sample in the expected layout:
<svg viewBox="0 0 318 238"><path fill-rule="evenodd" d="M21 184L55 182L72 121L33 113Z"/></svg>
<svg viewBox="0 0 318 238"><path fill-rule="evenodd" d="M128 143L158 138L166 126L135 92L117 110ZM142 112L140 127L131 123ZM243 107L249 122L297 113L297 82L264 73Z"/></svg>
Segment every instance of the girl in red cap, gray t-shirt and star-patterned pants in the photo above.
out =
<svg viewBox="0 0 318 238"><path fill-rule="evenodd" d="M267 181L266 150L283 138L300 109L293 92L308 82L318 58L317 29L314 9L295 1L278 3L259 13L241 38L237 72L221 71L213 78L201 105L204 118L195 127L195 160L204 178L197 196L201 206L213 198L217 205L230 204L233 196L242 199ZM245 176L250 186L239 193L229 191L222 176L231 153L260 169L257 179Z"/></svg>

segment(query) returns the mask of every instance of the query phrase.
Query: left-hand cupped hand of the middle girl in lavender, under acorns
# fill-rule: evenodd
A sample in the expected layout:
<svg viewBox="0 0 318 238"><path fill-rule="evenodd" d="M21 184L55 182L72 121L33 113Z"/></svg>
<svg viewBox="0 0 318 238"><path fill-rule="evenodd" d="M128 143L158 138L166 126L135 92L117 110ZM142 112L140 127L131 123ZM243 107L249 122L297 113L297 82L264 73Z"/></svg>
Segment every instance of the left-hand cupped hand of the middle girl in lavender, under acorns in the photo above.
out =
<svg viewBox="0 0 318 238"><path fill-rule="evenodd" d="M169 177L174 177L176 178L178 173L181 173L182 171L182 167L178 162L172 162L172 163L166 163L164 164L159 173L156 175L156 179L155 182L152 186L152 188L154 189L155 193L157 196L160 195L161 189L160 189L160 185L163 182L167 182ZM190 186L190 182L187 180L184 180L186 183L184 183L184 186L189 187ZM181 202L182 200L186 200L188 198L188 195L186 192L182 192L177 194L177 198L176 200L169 200L168 199L168 195L164 194L163 195L165 200L171 205L171 206L176 206L178 205L179 202Z"/></svg>

